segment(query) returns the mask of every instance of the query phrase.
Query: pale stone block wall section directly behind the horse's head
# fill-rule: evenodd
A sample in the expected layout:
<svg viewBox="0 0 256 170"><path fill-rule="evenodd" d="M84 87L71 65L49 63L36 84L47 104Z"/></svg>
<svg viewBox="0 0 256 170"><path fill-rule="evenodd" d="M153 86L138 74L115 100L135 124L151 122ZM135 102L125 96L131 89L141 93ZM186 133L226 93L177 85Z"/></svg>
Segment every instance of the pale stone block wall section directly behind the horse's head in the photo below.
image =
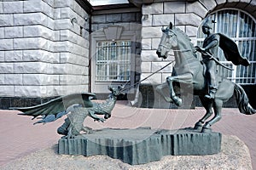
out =
<svg viewBox="0 0 256 170"><path fill-rule="evenodd" d="M196 12L195 12L196 11ZM171 52L168 59L159 59L156 52L162 36L161 27L169 26L170 22L186 34L193 43L196 41L197 28L202 18L207 14L207 9L199 2L186 1L158 1L158 3L144 4L142 7L142 78L148 77L152 72L159 70L174 60ZM161 83L172 74L173 65L150 77L147 83Z"/></svg>

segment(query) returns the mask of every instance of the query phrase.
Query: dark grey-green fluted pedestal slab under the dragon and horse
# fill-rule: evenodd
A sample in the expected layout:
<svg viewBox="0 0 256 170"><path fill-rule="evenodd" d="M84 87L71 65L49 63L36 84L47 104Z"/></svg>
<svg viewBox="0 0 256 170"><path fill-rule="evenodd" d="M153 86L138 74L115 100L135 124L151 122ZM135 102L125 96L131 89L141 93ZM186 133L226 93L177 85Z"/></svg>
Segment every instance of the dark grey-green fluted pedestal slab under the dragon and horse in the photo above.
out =
<svg viewBox="0 0 256 170"><path fill-rule="evenodd" d="M162 156L203 156L220 152L221 133L199 133L194 129L153 130L102 129L60 139L59 154L106 155L131 165L159 161Z"/></svg>

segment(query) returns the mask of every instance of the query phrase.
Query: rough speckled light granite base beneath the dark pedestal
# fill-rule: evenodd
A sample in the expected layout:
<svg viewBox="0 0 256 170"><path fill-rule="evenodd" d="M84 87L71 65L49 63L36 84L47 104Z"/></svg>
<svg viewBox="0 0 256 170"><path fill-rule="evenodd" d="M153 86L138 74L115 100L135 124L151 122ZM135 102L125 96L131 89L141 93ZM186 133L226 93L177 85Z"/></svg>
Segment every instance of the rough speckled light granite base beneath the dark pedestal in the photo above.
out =
<svg viewBox="0 0 256 170"><path fill-rule="evenodd" d="M247 145L236 136L222 136L221 152L208 156L164 156L160 161L143 165L129 165L109 156L58 155L58 146L38 150L28 156L10 161L2 170L10 169L111 169L111 170L161 170L161 169L247 169L252 161Z"/></svg>

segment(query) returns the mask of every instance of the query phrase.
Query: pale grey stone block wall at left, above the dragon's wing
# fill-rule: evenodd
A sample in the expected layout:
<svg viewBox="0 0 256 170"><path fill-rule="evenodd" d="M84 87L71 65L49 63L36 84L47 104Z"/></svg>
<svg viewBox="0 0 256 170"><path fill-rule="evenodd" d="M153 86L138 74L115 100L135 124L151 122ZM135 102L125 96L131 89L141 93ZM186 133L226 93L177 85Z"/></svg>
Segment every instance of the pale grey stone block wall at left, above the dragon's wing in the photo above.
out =
<svg viewBox="0 0 256 170"><path fill-rule="evenodd" d="M0 95L89 90L88 14L75 0L0 2Z"/></svg>

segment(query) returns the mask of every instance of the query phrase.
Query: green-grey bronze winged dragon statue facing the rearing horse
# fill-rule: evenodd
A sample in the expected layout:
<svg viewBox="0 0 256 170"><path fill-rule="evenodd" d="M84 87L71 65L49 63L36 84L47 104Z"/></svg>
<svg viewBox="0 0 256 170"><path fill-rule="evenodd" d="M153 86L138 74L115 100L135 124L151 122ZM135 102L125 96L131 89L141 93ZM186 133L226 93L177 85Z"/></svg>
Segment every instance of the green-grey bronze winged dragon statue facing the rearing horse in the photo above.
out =
<svg viewBox="0 0 256 170"><path fill-rule="evenodd" d="M41 119L37 123L54 122L67 115L65 122L57 129L57 133L65 135L64 138L72 139L79 135L80 132L92 133L90 127L84 127L84 119L90 116L95 121L104 122L111 116L111 111L116 103L118 96L122 93L123 87L112 88L108 87L111 94L108 95L103 103L92 102L90 99L95 97L95 94L69 94L56 99L52 99L42 105L35 105L32 107L15 107L21 111L19 115L33 116L32 119ZM96 116L104 115L104 118Z"/></svg>

